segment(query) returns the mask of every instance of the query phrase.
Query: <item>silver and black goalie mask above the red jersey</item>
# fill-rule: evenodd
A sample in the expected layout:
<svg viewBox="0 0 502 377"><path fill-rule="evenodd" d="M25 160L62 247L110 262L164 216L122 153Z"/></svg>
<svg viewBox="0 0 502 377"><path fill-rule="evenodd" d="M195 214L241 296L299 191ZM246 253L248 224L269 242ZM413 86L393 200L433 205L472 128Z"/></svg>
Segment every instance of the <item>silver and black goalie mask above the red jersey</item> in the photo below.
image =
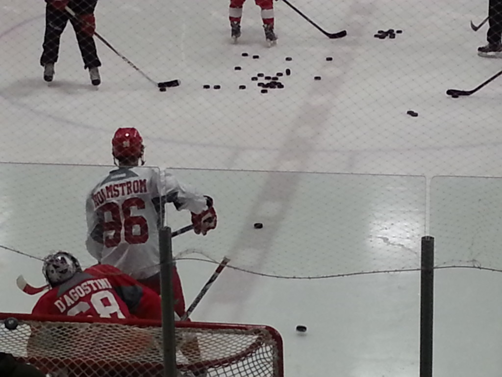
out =
<svg viewBox="0 0 502 377"><path fill-rule="evenodd" d="M44 258L42 273L51 287L56 287L71 279L82 268L77 258L66 251L58 251Z"/></svg>

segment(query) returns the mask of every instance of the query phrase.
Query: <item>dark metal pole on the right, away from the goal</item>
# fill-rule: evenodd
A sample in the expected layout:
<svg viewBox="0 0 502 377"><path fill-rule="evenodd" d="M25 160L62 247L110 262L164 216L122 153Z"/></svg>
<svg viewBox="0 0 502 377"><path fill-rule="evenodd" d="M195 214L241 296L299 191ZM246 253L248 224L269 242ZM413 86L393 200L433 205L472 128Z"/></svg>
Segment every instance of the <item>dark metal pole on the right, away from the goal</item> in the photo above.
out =
<svg viewBox="0 0 502 377"><path fill-rule="evenodd" d="M422 237L420 277L420 377L432 377L434 314L434 237Z"/></svg>

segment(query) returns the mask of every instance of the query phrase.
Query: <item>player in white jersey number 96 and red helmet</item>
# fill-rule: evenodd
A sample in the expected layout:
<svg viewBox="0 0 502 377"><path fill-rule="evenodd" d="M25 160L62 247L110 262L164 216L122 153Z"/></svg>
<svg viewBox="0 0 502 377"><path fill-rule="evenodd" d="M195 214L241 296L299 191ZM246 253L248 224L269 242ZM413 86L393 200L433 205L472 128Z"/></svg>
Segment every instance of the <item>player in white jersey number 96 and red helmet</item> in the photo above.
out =
<svg viewBox="0 0 502 377"><path fill-rule="evenodd" d="M216 228L210 197L196 193L172 174L143 165L143 138L135 128L119 128L112 139L118 165L87 197L87 250L100 263L111 264L160 294L158 228L164 205L188 210L197 234ZM173 267L175 311L182 317L185 302L181 281Z"/></svg>

